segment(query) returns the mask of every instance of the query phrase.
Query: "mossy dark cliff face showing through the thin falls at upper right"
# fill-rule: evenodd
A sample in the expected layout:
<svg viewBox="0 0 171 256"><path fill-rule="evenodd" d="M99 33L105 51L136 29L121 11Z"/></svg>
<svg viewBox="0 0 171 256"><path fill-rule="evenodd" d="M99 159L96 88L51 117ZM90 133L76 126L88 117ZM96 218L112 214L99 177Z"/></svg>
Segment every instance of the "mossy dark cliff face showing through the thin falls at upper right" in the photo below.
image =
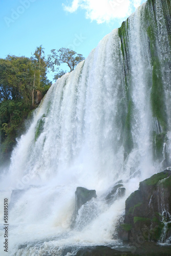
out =
<svg viewBox="0 0 171 256"><path fill-rule="evenodd" d="M153 157L162 161L162 169L169 166L168 149L166 144L164 147L164 143L168 141L167 131L170 129L170 115L168 114L170 111L167 101L170 97L168 84L171 75L169 58L171 49L170 12L170 0L148 0L141 8L141 23L138 19L133 21L133 16L130 16L118 30L128 103L124 128L125 156L131 152L135 144L131 124L136 115L134 112L136 100L133 99L132 89L134 83L132 74L135 75L136 73L139 75L139 80L136 81L139 87L143 88L145 85L146 90L151 88L148 93L151 95L150 104L153 116L153 134L151 135ZM139 37L136 33L130 33L133 23L135 23L134 30L139 27L141 34ZM138 60L136 54L134 55L137 45L139 45L140 53ZM132 56L134 56L133 60L131 59ZM141 69L138 69L140 59L142 61ZM142 83L141 77L143 77ZM135 93L138 98L138 89Z"/></svg>

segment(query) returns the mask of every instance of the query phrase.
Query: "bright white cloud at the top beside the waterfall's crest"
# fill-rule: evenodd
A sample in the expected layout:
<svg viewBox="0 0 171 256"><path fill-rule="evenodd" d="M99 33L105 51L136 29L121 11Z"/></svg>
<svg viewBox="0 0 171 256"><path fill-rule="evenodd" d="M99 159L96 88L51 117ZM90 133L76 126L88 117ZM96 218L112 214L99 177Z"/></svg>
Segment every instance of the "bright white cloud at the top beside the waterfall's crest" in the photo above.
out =
<svg viewBox="0 0 171 256"><path fill-rule="evenodd" d="M68 12L75 12L78 8L86 10L86 17L96 20L98 24L110 22L115 18L129 16L135 8L145 0L71 0L71 6L63 4Z"/></svg>

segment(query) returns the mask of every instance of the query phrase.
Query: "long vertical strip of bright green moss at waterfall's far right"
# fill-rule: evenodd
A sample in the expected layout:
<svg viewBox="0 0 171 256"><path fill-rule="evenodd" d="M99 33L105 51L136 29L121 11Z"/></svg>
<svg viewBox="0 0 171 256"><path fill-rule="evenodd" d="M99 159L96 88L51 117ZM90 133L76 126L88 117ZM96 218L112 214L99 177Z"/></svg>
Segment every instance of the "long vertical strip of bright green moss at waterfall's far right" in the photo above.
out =
<svg viewBox="0 0 171 256"><path fill-rule="evenodd" d="M170 40L170 28L168 25L171 21L170 15L169 15L170 7L171 7L170 1L167 1L167 0L161 1L161 4L163 7L162 11L164 12L163 17L165 19L165 24L163 24L163 26L166 27L168 31L168 40ZM154 155L154 159L161 160L163 158L163 155L162 155L163 143L164 143L165 134L167 131L167 118L166 118L166 106L165 106L165 100L164 100L162 67L164 66L168 67L170 65L170 60L168 58L168 59L165 59L164 62L161 62L159 53L157 51L158 41L159 41L159 37L158 37L159 28L158 28L155 8L156 8L156 1L148 0L148 4L146 5L145 12L144 12L144 20L146 21L145 30L149 39L149 50L151 54L151 64L153 67L152 90L151 90L152 112L153 112L153 117L155 117L156 121L158 122L159 133L160 133L160 134L157 134L156 132L153 133L153 155ZM160 42L160 43L162 43L163 47L165 47L164 38L163 38L163 42ZM151 86L151 82L149 82L149 84Z"/></svg>

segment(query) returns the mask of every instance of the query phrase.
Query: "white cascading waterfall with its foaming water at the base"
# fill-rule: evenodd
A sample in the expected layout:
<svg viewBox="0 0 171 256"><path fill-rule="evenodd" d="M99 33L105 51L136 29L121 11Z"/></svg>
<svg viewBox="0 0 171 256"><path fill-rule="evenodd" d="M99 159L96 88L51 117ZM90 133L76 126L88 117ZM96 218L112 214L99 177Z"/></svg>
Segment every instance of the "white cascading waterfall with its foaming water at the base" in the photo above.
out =
<svg viewBox="0 0 171 256"><path fill-rule="evenodd" d="M50 88L1 177L1 255L4 198L9 255L119 243L112 238L125 199L171 165L170 24L170 1L148 1ZM109 205L120 180L125 197ZM96 189L97 198L73 227L77 186Z"/></svg>

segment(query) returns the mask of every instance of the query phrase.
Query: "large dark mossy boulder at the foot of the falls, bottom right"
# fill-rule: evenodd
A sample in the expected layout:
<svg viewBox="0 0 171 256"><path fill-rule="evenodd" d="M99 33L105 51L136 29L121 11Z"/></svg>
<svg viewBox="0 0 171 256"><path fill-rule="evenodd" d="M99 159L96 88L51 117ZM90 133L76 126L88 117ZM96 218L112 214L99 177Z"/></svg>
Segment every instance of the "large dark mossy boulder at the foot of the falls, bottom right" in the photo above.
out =
<svg viewBox="0 0 171 256"><path fill-rule="evenodd" d="M125 202L120 237L129 241L171 242L171 171L155 174L140 182Z"/></svg>

